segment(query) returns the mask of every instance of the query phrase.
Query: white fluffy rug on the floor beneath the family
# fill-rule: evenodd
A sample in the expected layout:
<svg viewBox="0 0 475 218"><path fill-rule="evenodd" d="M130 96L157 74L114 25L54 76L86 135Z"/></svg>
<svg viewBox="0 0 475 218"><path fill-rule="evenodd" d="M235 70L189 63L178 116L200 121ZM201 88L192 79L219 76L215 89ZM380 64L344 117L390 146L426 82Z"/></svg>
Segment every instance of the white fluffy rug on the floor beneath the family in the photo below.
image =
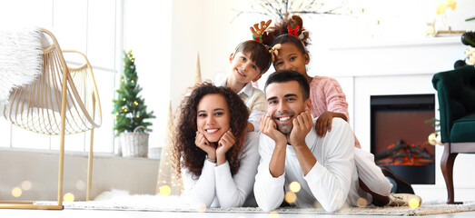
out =
<svg viewBox="0 0 475 218"><path fill-rule="evenodd" d="M37 202L50 204L52 202ZM65 209L85 210L124 210L124 211L161 211L161 212L205 212L205 213L267 213L255 207L203 208L186 204L177 196L131 195L126 191L112 190L97 196L91 202L65 202ZM401 215L422 216L442 213L460 213L475 211L475 203L448 205L445 203L422 203L419 208L410 207L346 207L336 213L327 213L322 208L279 208L276 213L313 213L313 214L351 214L351 215Z"/></svg>

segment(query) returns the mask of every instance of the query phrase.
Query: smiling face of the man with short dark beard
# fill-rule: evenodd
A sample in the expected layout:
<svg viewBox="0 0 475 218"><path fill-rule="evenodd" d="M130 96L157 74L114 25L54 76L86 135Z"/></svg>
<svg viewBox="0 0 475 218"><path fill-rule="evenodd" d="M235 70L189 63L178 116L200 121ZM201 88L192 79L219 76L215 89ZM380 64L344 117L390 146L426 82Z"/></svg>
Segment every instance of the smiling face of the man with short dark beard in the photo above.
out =
<svg viewBox="0 0 475 218"><path fill-rule="evenodd" d="M305 109L311 108L310 99L303 101L301 88L296 81L269 84L265 96L267 114L272 117L282 134L290 134L293 119Z"/></svg>

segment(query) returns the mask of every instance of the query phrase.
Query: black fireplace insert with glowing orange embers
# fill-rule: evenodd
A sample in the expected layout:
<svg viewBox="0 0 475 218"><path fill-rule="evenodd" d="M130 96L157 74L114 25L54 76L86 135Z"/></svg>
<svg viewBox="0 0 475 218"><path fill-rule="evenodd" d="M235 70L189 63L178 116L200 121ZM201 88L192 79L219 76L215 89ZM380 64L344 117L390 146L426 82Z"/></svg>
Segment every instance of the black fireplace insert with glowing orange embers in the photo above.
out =
<svg viewBox="0 0 475 218"><path fill-rule="evenodd" d="M371 153L411 184L435 183L434 94L371 95Z"/></svg>

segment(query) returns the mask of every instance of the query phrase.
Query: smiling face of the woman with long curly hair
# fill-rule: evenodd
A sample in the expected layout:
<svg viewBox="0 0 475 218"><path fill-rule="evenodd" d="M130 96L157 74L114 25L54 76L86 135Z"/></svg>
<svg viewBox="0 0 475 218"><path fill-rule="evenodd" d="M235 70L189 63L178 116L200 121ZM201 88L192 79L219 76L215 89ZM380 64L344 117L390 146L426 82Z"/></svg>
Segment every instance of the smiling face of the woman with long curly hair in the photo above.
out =
<svg viewBox="0 0 475 218"><path fill-rule="evenodd" d="M196 125L208 142L218 142L228 131L230 120L229 106L222 94L203 96L197 108Z"/></svg>

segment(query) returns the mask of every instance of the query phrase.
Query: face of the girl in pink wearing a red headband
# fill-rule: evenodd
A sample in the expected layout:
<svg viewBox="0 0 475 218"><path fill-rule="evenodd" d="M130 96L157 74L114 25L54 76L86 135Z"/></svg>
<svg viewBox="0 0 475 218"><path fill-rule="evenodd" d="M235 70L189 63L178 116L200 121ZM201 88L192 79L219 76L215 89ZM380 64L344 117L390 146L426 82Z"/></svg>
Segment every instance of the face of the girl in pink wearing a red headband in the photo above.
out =
<svg viewBox="0 0 475 218"><path fill-rule="evenodd" d="M273 67L275 70L293 70L307 75L305 65L309 62L309 54L302 54L299 48L292 43L284 43L273 62Z"/></svg>

